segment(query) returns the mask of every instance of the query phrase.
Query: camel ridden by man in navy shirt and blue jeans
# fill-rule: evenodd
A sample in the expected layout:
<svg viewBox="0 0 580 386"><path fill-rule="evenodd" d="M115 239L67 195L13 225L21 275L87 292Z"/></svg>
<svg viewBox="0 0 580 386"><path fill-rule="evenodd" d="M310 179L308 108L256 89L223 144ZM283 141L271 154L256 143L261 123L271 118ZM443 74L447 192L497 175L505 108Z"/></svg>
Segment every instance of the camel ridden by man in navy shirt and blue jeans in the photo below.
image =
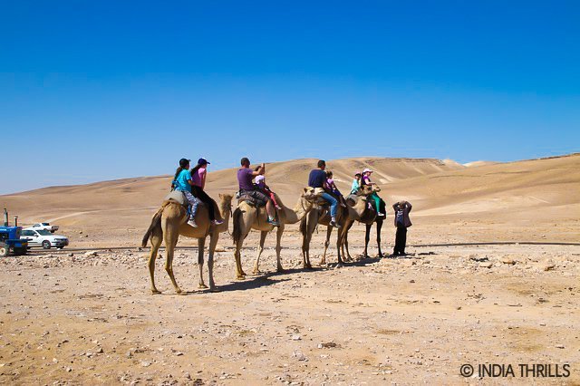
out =
<svg viewBox="0 0 580 386"><path fill-rule="evenodd" d="M362 186L356 196L359 199L354 199L351 196L347 198L347 207L339 207L339 211L337 214L337 222L341 224L343 227L338 228L337 232L338 235L336 237L336 249L338 255L338 266L343 265L343 258L341 257L341 251L344 256L344 236L346 236L346 231L348 230L347 227L344 225L349 225L352 227L353 220L357 220L362 217L363 213L367 210L367 201L366 198L374 192L381 191L376 185L364 185ZM314 208L308 217L305 217L304 220L300 224L300 230L303 234L303 245L302 245L302 254L303 254L303 265L305 268L312 268L310 264L310 241L312 239L312 234L314 233L314 229L318 225L325 225L326 226L326 240L324 242L324 254L320 260L320 265L326 264L326 252L328 250L328 246L330 245L330 236L333 232L333 227L329 225L330 223L330 215L328 210L325 207L317 207ZM347 249L348 252L348 249ZM350 255L348 256L350 259Z"/></svg>

